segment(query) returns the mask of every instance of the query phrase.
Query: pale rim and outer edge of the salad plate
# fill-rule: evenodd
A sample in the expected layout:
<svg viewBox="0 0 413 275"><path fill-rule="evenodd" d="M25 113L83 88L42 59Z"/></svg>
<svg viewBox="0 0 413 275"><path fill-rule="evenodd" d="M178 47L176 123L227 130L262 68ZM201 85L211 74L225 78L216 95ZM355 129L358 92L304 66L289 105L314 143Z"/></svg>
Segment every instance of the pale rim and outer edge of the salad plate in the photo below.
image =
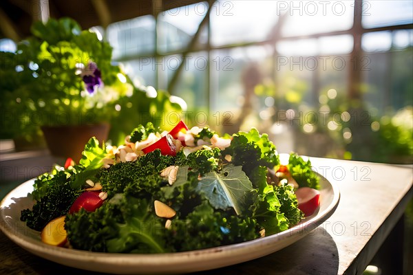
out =
<svg viewBox="0 0 413 275"><path fill-rule="evenodd" d="M316 172L317 173L317 172ZM124 274L129 274L129 273L136 273L140 272L139 270L136 270L138 267L145 267L145 273L147 272L169 272L169 273L176 273L176 272L195 272L195 271L202 271L202 270L211 270L219 267L224 267L228 265L233 265L236 263L242 263L244 261L250 261L253 259L260 258L262 256L266 256L268 254L271 254L273 252L276 252L278 250L281 250L283 248L286 248L288 245L295 243L295 241L298 241L299 239L303 238L315 228L317 228L321 223L326 221L337 209L337 206L339 204L340 200L340 191L339 191L339 186L337 183L332 183L319 173L321 180L324 180L326 183L328 183L332 189L332 201L331 203L326 207L326 209L319 211L317 214L315 214L314 217L310 217L310 219L303 221L299 223L298 225L293 226L292 228L289 228L288 230L285 230L283 232L279 232L277 234L273 234L270 236L265 236L264 238L258 238L258 239L253 239L251 241L244 241L242 243L235 243L235 244L230 244L230 245L221 245L215 248L205 248L201 250L191 250L187 252L167 252L167 253L161 253L161 254L122 254L122 253L107 253L107 252L90 252L90 251L85 251L85 250L75 250L75 249L67 249L67 248L59 248L51 245L47 245L45 243L42 243L39 240L33 239L31 236L28 236L27 234L23 234L22 232L19 232L19 230L14 230L12 228L12 224L10 224L9 221L6 221L6 217L3 215L3 209L5 208L4 204L6 201L14 199L19 199L19 198L28 198L28 195L20 195L20 197L15 197L13 196L15 192L22 192L21 189L23 188L28 188L28 186L32 186L34 183L34 180L36 179L29 179L28 181L23 182L13 190L11 190L0 202L0 230L14 243L19 245L21 248L28 250L30 253L35 254L36 256L41 256L44 259L48 259L50 261L54 261L56 263L60 263L62 265L67 265L70 267L76 267L76 268L81 268L83 270L90 270L90 271L98 271L98 272L108 272L107 270L107 265L118 265L119 263L122 263L123 267L128 267L125 268L125 270L120 271L117 270L117 272L121 272ZM8 207L10 207L12 204L16 203L10 203ZM14 218L14 217L12 217ZM317 218L317 219L316 219ZM313 228L311 228L313 226ZM31 230L30 228L27 228L27 230ZM34 231L34 230L33 230ZM288 243L289 238L296 237L295 241L292 243ZM286 241L286 245L282 245L282 248L273 250L272 252L267 252L268 250L271 250L271 248L268 248L269 246L273 245L274 243L277 243L279 241ZM213 261L213 260L220 260L222 256L227 256L227 254L233 255L235 258L237 256L242 256L242 251L245 250L246 247L253 245L253 247L262 247L266 248L266 252L262 252L262 254L258 256L248 256L246 257L247 259L237 259L236 261L230 261L228 264L226 263L221 263L218 264L216 263L215 265L210 265L207 268L201 268L197 267L194 265L195 263L199 263L200 261L204 261L207 259L208 261ZM56 260L56 257L59 259ZM83 263L79 263L78 259L81 257L83 259ZM212 258L212 259L211 259ZM69 263L67 263L66 260L69 260ZM103 264L103 268L100 267L98 269L92 268L92 265L85 265L84 263L89 263L89 261L96 261L96 263ZM170 265L167 266L167 268L162 268L162 265L160 263L164 263L166 261L171 262ZM188 263L191 263L191 266L186 266L186 268L183 268L182 264L185 263L186 265ZM158 267L158 268L156 268Z"/></svg>

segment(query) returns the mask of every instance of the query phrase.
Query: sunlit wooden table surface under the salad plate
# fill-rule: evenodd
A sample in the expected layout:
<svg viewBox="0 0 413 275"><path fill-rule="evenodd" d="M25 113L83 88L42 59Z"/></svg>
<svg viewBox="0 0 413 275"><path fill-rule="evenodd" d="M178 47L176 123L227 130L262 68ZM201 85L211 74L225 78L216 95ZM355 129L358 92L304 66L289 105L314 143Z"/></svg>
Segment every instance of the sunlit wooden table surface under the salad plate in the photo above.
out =
<svg viewBox="0 0 413 275"><path fill-rule="evenodd" d="M341 199L332 217L279 252L200 274L361 274L412 199L412 166L320 158L312 162L317 172L339 185ZM393 271L401 271L401 249L399 245L388 256L395 259ZM0 274L95 273L34 256L0 232Z"/></svg>

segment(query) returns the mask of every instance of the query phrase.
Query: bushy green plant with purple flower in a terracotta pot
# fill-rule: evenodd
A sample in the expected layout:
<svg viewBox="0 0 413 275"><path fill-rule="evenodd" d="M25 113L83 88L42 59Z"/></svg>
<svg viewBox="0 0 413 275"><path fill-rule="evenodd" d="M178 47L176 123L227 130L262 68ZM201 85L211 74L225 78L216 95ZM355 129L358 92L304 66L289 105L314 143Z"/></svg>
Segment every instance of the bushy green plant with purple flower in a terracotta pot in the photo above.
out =
<svg viewBox="0 0 413 275"><path fill-rule="evenodd" d="M30 140L43 133L52 155L78 159L90 137L107 140L111 122L119 122L128 108L132 120L153 104L162 105L159 111L180 109L169 95L149 98L146 87L135 87L112 64L109 43L76 21L39 21L31 30L33 36L19 43L17 52L1 53L2 82L8 78L1 84L1 122L10 127L2 136ZM117 142L123 127L113 128Z"/></svg>

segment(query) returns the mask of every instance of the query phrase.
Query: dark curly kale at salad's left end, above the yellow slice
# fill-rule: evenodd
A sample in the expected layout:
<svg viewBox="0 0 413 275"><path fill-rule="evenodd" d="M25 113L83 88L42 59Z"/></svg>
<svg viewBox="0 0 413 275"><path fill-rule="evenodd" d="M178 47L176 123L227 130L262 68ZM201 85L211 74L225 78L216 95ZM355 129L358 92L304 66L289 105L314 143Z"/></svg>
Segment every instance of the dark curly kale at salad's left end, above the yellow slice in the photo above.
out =
<svg viewBox="0 0 413 275"><path fill-rule="evenodd" d="M72 188L65 171L59 171L53 177L43 175L36 179L34 186L36 203L32 210L22 210L20 219L37 231L41 231L52 219L65 215L81 193L81 188Z"/></svg>

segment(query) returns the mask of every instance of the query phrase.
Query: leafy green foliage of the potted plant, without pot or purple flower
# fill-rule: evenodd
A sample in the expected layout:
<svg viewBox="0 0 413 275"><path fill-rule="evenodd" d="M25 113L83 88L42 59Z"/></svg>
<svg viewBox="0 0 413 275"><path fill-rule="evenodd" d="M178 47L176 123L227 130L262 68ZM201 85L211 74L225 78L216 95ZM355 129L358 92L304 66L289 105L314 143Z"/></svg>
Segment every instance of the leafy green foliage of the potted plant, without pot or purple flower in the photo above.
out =
<svg viewBox="0 0 413 275"><path fill-rule="evenodd" d="M38 21L31 31L33 36L18 43L16 52L0 52L1 138L30 141L41 136L44 125L109 123L117 144L142 117L160 126L165 120L159 116L180 111L166 92L149 97L147 87L136 87L112 63L109 43L76 21ZM79 76L79 68L90 62L96 63L104 83L92 95Z"/></svg>

